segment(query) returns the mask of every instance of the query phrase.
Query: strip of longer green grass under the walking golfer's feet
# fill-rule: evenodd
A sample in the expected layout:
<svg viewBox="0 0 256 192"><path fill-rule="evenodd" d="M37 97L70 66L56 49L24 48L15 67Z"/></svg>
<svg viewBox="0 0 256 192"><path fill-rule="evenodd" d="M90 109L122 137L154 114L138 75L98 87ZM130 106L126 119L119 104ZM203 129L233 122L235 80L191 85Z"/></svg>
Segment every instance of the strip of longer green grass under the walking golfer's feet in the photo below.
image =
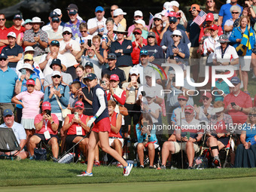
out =
<svg viewBox="0 0 256 192"><path fill-rule="evenodd" d="M129 177L123 177L123 169L114 166L93 168L93 177L76 175L86 169L81 163L59 164L22 160L0 161L0 186L56 185L56 184L99 184L149 181L190 181L218 178L255 177L256 169L133 169Z"/></svg>

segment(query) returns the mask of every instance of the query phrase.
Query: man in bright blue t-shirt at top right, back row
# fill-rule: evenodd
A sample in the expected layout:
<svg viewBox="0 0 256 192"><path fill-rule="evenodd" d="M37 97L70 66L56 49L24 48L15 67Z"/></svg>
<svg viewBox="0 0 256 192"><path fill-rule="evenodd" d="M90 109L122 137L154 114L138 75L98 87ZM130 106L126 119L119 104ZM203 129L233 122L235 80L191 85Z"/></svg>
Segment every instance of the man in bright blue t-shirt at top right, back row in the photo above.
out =
<svg viewBox="0 0 256 192"><path fill-rule="evenodd" d="M222 29L224 29L224 24L226 23L226 21L232 18L230 8L233 5L238 5L237 1L238 0L231 0L230 3L224 4L221 6L221 10L218 13L218 25L221 26ZM241 8L241 11L242 11L242 7L240 5L238 6Z"/></svg>

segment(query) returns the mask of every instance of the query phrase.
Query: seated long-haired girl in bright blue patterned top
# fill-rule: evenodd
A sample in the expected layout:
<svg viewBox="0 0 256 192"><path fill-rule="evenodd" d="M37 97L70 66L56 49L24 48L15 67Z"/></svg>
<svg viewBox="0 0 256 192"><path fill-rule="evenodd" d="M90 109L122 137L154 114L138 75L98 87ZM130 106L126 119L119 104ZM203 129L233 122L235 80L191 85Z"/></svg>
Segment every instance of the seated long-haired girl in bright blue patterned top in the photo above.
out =
<svg viewBox="0 0 256 192"><path fill-rule="evenodd" d="M139 156L140 167L144 168L144 151L148 148L149 169L154 169L155 148L158 148L157 136L154 129L151 115L144 113L139 117L139 123L136 124L136 133L138 138L137 153Z"/></svg>

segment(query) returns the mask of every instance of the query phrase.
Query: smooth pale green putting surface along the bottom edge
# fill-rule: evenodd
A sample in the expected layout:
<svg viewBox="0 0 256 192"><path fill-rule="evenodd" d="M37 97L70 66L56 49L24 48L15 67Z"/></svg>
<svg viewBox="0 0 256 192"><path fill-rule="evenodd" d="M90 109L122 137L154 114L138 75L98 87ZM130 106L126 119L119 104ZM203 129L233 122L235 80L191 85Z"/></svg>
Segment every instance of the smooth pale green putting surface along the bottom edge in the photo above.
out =
<svg viewBox="0 0 256 192"><path fill-rule="evenodd" d="M84 178L85 180L87 178ZM200 181L170 181L170 182L134 182L134 183L111 183L111 184L62 184L62 185L35 185L22 187L0 187L2 192L13 191L224 191L224 192L249 192L255 191L256 177L249 178L226 178Z"/></svg>

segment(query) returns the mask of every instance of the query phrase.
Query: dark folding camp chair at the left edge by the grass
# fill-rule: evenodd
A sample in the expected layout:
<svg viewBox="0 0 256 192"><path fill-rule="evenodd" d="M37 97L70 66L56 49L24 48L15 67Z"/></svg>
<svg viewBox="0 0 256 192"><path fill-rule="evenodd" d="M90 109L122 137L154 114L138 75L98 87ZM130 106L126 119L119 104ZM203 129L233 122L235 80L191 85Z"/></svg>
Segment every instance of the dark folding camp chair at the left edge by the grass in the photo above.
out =
<svg viewBox="0 0 256 192"><path fill-rule="evenodd" d="M20 145L17 141L14 131L8 127L0 127L0 151L2 152L11 152L11 151L20 151ZM5 158L10 158L13 160L13 157L17 154L2 155Z"/></svg>

